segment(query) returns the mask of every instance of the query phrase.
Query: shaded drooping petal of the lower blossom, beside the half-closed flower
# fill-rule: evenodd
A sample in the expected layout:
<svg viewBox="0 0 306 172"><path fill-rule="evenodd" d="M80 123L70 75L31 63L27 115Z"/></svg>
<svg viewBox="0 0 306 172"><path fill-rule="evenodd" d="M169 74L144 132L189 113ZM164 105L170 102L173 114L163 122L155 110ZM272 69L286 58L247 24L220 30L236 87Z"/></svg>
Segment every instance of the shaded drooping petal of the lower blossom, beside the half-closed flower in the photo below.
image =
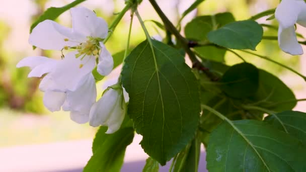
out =
<svg viewBox="0 0 306 172"><path fill-rule="evenodd" d="M86 81L74 92L67 92L66 108L69 111L78 111L88 114L92 105L96 102L96 81L92 73L86 76Z"/></svg>

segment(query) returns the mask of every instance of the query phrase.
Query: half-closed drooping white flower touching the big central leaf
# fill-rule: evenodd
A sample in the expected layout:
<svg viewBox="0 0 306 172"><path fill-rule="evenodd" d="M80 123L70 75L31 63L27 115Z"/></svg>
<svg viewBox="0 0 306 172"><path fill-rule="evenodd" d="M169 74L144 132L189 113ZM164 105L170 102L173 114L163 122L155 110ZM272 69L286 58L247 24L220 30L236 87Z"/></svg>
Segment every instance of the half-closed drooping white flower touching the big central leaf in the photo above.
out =
<svg viewBox="0 0 306 172"><path fill-rule="evenodd" d="M126 111L122 87L118 88L118 85L112 87L109 87L100 100L92 106L89 115L91 126L108 126L107 134L114 133L120 128Z"/></svg>

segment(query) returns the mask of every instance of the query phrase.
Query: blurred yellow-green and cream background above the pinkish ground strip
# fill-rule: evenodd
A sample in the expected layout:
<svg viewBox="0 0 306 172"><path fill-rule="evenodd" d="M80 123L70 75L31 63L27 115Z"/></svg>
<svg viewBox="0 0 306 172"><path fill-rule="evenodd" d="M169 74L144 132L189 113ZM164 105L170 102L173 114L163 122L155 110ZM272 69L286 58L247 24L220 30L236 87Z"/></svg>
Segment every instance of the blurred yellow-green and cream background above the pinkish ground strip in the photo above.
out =
<svg viewBox="0 0 306 172"><path fill-rule="evenodd" d="M29 68L16 68L19 60L26 56L45 55L60 58L55 51L33 50L28 44L29 28L31 22L37 19L45 9L51 6L61 7L72 1L62 0L30 0L30 1L4 1L0 0L0 147L24 144L37 144L65 140L91 139L95 128L88 124L79 125L69 119L65 112L48 112L42 103L43 94L38 90L40 78L27 78ZM20 3L20 4L19 4ZM177 23L180 14L189 7L192 0L160 0L158 3L167 16ZM206 0L197 11L191 13L183 21L183 26L195 15L212 15L221 12L232 12L236 20L245 20L259 12L275 8L278 0ZM16 6L16 4L19 4ZM95 10L98 16L104 18L109 24L115 18L114 13L120 12L124 7L123 0L95 1L88 0L81 6ZM146 0L143 0L139 13L144 20L160 21ZM120 22L106 46L113 54L125 48L129 14ZM62 25L70 26L70 16L66 12L57 19ZM259 23L277 25L275 20L259 20ZM154 24L147 22L146 26L151 36L164 37L165 34ZM299 30L303 34L303 30ZM183 32L182 32L183 33ZM266 36L276 36L276 30L267 30ZM136 46L145 39L139 23L135 20L131 36L131 45ZM301 71L302 61L298 56L289 56L280 51L277 41L263 41L257 48L257 53L270 56L276 61ZM304 85L302 80L289 71L257 57L242 54L249 62L256 64L274 74L277 74L296 92L301 92ZM231 53L226 54L226 63L241 62ZM120 67L120 66L119 66ZM116 69L110 76L98 84L98 92L102 92L102 85L108 79L118 76L120 69Z"/></svg>

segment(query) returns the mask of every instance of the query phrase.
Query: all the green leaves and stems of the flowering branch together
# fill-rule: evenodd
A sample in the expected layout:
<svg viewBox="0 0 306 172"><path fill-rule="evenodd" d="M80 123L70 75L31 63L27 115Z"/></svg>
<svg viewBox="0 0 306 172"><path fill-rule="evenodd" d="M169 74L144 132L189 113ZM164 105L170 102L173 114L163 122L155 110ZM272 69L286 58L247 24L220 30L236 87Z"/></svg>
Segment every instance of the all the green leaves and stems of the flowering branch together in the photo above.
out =
<svg viewBox="0 0 306 172"><path fill-rule="evenodd" d="M54 20L81 2L47 10L37 22ZM195 17L184 29L185 38L179 32L181 26L175 27L156 1L149 2L163 23L149 21L166 32L167 41L152 40L137 11L141 1L127 1L112 26L132 7L146 35L130 53L128 38L126 51L113 56L115 66L124 59L119 81L129 94L127 116L133 127L123 124L110 135L101 127L85 171L119 171L134 131L143 136L140 144L150 156L143 171L158 171L159 164L172 158L171 171L197 171L201 144L206 147L207 169L212 172L305 171L305 114L291 111L298 100L278 76L241 55L242 51L256 55L306 78L253 52L265 39L263 25L255 20L273 15L275 10L243 21L236 21L228 12ZM195 1L181 20L202 2ZM192 68L185 63L182 49ZM244 62L226 65L228 51ZM97 81L103 79L96 69L93 73Z"/></svg>

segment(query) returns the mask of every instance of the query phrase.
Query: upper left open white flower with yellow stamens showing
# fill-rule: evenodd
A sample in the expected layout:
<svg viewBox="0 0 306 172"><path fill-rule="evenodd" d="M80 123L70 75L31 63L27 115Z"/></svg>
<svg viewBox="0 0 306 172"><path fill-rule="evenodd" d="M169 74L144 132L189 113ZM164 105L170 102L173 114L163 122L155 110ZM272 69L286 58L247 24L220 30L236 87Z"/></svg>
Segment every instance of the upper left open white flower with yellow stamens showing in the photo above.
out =
<svg viewBox="0 0 306 172"><path fill-rule="evenodd" d="M85 62L99 56L98 72L108 75L113 69L113 58L101 42L108 35L107 23L83 7L71 8L70 13L72 28L45 20L33 29L29 43L48 50L76 48L75 57Z"/></svg>

